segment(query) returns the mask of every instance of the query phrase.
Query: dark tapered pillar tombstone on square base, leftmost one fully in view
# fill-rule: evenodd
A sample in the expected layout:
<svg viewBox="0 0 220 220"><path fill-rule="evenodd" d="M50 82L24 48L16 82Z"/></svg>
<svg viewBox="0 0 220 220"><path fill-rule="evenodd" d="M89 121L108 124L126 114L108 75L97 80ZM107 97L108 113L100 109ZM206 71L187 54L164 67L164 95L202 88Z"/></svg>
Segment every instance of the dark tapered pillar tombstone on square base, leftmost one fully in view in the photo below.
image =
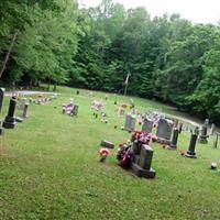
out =
<svg viewBox="0 0 220 220"><path fill-rule="evenodd" d="M3 121L3 128L13 129L15 127L15 108L16 108L16 98L12 97L9 103L8 114Z"/></svg>

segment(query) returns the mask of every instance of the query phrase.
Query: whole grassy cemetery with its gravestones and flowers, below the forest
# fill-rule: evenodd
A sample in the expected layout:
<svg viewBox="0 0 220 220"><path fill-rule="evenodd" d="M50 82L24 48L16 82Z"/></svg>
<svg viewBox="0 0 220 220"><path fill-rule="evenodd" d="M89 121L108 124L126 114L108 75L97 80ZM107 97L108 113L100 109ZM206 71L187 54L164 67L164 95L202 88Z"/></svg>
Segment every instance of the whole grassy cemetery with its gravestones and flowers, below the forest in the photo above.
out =
<svg viewBox="0 0 220 220"><path fill-rule="evenodd" d="M219 219L208 119L68 87L21 94L0 89L0 219Z"/></svg>

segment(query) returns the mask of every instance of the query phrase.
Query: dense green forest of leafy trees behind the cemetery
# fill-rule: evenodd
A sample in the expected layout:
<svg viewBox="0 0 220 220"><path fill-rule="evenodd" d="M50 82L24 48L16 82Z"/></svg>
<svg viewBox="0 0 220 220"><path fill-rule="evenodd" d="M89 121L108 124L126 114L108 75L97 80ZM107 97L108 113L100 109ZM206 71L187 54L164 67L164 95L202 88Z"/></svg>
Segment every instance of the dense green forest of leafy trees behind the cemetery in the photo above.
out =
<svg viewBox="0 0 220 220"><path fill-rule="evenodd" d="M175 105L220 123L220 26L103 0L0 1L0 80L66 84Z"/></svg>

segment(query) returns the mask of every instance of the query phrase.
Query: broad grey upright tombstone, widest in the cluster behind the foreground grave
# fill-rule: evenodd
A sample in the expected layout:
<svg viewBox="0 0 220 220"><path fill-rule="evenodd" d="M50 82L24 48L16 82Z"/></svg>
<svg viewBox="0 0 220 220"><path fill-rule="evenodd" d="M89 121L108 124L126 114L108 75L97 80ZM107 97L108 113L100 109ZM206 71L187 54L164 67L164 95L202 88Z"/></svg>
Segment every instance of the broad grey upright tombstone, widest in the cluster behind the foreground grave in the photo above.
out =
<svg viewBox="0 0 220 220"><path fill-rule="evenodd" d="M173 122L170 120L160 119L157 131L156 131L157 141L160 143L169 144L172 130L173 130Z"/></svg>

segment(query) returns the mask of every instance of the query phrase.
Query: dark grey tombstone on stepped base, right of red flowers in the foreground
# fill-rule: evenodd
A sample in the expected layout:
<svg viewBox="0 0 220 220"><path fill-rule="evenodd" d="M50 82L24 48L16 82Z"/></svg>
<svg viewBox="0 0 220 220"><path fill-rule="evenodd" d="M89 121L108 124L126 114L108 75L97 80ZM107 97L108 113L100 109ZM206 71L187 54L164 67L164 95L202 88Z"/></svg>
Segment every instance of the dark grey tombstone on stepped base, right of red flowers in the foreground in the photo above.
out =
<svg viewBox="0 0 220 220"><path fill-rule="evenodd" d="M139 160L131 164L132 173L139 177L155 178L156 172L151 167L153 153L151 146L143 144Z"/></svg>

